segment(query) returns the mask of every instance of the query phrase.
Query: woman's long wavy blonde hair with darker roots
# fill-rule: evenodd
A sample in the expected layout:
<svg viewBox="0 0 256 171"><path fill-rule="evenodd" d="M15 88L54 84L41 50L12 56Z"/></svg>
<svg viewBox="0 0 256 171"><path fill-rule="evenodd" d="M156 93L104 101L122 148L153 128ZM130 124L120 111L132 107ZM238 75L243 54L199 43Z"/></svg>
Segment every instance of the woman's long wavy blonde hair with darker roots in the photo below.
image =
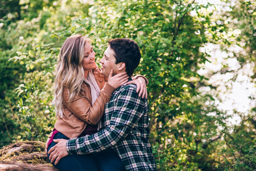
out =
<svg viewBox="0 0 256 171"><path fill-rule="evenodd" d="M90 43L90 39L80 34L68 37L63 43L56 68L54 80L54 99L56 118L62 118L63 91L68 88L69 102L79 92L84 80L82 61L84 58L84 45ZM77 93L78 94L78 93Z"/></svg>

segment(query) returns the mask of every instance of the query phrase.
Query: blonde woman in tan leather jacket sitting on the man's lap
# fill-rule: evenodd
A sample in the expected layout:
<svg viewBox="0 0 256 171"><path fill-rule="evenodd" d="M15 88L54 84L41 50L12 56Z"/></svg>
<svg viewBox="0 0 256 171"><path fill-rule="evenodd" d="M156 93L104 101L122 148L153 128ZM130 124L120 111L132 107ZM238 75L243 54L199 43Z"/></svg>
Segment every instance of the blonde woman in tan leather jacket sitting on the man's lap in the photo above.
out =
<svg viewBox="0 0 256 171"><path fill-rule="evenodd" d="M128 81L126 73L112 77L111 71L109 78L106 78L100 71L89 39L81 35L66 39L60 50L54 85L53 102L59 117L46 149L56 145L53 139L72 139L92 135L99 130L105 104L115 89ZM141 84L145 77L137 77L141 80L134 83L141 88L143 97L147 95L145 85ZM77 162L70 167L62 164L70 160ZM54 166L60 170L123 170L120 157L111 148L95 154L69 155Z"/></svg>

